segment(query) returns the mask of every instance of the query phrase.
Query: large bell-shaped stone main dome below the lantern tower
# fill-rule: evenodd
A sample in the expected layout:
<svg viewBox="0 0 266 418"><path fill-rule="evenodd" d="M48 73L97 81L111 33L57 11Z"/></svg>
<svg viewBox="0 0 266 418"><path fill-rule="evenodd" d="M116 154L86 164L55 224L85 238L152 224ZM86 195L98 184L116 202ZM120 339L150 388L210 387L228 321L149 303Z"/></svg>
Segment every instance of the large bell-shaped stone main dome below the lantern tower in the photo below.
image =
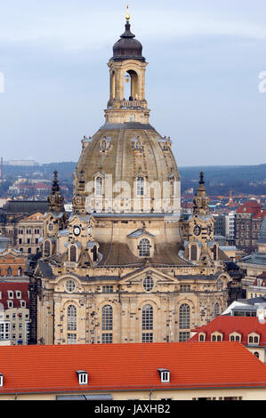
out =
<svg viewBox="0 0 266 418"><path fill-rule="evenodd" d="M74 188L77 189L78 176L82 173L85 207L89 213L173 213L174 204L180 208L180 177L171 141L163 138L151 125L106 123L83 142ZM100 186L105 183L103 199L95 196L97 179ZM141 179L140 184L142 181L143 193L139 193L141 198L137 198L135 206L138 179ZM170 190L167 195L167 188L173 182L175 203Z"/></svg>

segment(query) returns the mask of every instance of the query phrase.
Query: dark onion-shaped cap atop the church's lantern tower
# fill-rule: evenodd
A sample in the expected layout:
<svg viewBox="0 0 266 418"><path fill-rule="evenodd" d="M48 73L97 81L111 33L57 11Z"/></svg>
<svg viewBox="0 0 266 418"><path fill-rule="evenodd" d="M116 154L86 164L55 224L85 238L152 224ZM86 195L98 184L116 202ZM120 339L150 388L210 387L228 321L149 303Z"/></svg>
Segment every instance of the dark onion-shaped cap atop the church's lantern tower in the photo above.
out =
<svg viewBox="0 0 266 418"><path fill-rule="evenodd" d="M124 34L120 36L120 39L113 46L112 60L145 61L145 58L142 57L142 45L134 37L130 30L130 23L126 22Z"/></svg>

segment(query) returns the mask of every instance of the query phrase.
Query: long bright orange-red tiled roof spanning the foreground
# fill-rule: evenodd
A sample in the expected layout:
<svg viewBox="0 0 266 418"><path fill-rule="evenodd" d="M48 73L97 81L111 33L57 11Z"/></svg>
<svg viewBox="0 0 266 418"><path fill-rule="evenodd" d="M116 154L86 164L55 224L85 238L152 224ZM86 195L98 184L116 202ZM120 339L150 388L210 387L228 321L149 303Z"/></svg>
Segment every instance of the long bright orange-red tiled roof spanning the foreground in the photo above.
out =
<svg viewBox="0 0 266 418"><path fill-rule="evenodd" d="M248 366L247 366L248 365ZM158 368L170 371L162 383ZM77 370L88 372L79 385ZM238 342L0 347L3 393L265 387L266 366Z"/></svg>

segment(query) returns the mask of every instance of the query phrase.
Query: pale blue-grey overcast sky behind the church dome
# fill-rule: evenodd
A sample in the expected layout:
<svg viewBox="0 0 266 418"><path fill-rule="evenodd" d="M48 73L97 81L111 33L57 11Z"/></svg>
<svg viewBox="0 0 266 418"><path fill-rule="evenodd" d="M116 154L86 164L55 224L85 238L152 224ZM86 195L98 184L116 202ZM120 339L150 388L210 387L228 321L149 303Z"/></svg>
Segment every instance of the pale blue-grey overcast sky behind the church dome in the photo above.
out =
<svg viewBox="0 0 266 418"><path fill-rule="evenodd" d="M124 0L9 0L0 9L0 157L77 161L104 123ZM132 0L150 123L179 166L266 163L265 0Z"/></svg>

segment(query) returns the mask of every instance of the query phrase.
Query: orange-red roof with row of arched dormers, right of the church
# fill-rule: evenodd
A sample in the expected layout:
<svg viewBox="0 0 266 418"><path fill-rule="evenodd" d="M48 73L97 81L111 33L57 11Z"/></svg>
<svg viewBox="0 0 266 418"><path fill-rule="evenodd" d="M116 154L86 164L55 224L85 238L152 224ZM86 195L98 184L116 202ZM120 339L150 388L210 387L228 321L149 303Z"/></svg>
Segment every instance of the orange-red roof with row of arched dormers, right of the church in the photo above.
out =
<svg viewBox="0 0 266 418"><path fill-rule="evenodd" d="M230 342L230 334L237 332L241 334L241 342L244 345L248 345L248 334L256 333L260 335L259 346L266 346L266 322L265 324L260 323L257 317L218 316L206 326L192 330L197 334L189 341L198 342L198 333L206 333L206 342L210 342L211 334L215 331L223 334L223 342Z"/></svg>

